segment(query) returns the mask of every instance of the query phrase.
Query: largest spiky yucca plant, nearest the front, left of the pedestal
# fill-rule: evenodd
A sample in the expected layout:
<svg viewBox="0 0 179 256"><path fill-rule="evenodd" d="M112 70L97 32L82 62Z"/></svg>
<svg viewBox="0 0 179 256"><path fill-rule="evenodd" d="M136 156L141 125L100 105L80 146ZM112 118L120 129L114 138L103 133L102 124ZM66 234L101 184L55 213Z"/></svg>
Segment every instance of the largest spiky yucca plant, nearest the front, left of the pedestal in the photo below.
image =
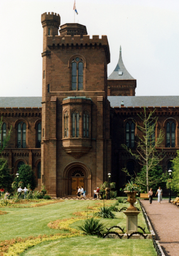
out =
<svg viewBox="0 0 179 256"><path fill-rule="evenodd" d="M103 236L105 232L105 226L100 220L91 217L87 218L84 221L84 224L82 226L78 226L80 230L82 230L86 235L91 236Z"/></svg>

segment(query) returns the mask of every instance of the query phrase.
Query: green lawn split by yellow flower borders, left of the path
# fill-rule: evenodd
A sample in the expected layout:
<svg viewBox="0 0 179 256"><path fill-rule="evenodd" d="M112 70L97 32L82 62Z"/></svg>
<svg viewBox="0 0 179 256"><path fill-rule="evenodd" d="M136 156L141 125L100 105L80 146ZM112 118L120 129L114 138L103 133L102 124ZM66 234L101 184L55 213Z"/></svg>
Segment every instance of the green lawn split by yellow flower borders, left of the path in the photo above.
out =
<svg viewBox="0 0 179 256"><path fill-rule="evenodd" d="M26 238L28 236L50 235L55 233L68 233L64 230L54 230L47 226L50 221L63 218L77 218L74 212L84 212L87 207L99 207L103 201L64 201L57 204L45 205L33 208L9 208L0 210L8 212L0 215L0 240L9 240L16 237ZM105 204L114 204L116 201L108 201ZM23 205L21 205L23 207ZM127 204L119 204L118 208L128 207ZM139 207L139 204L137 205ZM91 211L91 212L90 212ZM93 211L89 209L89 215ZM116 219L102 219L107 228L119 225L126 227L126 216L123 212L114 212ZM138 225L145 227L142 213L138 215ZM78 229L83 220L74 222L70 227ZM141 232L141 230L138 230ZM146 232L148 233L148 232ZM53 248L53 252L52 249ZM60 251L60 254L59 254ZM151 240L121 240L121 239L98 239L97 237L85 236L45 241L41 244L21 253L25 255L51 255L51 256L73 256L94 255L98 256L156 256Z"/></svg>

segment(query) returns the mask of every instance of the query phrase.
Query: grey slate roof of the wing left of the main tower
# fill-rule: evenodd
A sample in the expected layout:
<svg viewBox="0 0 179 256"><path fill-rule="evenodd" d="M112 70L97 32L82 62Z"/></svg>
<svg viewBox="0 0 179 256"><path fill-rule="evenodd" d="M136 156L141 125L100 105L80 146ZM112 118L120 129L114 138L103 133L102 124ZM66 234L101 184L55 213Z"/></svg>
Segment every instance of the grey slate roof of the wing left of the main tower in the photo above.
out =
<svg viewBox="0 0 179 256"><path fill-rule="evenodd" d="M0 108L41 108L42 97L0 97Z"/></svg>

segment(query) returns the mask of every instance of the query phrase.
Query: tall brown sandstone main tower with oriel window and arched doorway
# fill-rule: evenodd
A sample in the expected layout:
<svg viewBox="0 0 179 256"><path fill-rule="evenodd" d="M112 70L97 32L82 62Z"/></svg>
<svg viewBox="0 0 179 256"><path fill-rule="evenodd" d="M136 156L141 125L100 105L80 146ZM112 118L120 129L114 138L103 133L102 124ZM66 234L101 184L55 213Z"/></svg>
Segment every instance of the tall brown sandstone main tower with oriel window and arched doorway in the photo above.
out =
<svg viewBox="0 0 179 256"><path fill-rule="evenodd" d="M51 196L76 195L77 186L91 196L111 171L108 39L90 39L76 23L58 35L54 13L43 14L42 25L42 184ZM74 27L78 35L68 35Z"/></svg>

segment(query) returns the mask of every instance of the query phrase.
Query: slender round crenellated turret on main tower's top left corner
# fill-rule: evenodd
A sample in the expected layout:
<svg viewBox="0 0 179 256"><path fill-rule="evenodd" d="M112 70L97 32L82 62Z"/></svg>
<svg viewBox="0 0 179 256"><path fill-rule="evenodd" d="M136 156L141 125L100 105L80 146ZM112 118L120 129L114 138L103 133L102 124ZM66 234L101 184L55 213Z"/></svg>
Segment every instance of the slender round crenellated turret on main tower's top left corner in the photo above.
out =
<svg viewBox="0 0 179 256"><path fill-rule="evenodd" d="M43 52L47 50L47 36L58 35L60 26L60 15L54 12L45 12L41 16L43 26Z"/></svg>

